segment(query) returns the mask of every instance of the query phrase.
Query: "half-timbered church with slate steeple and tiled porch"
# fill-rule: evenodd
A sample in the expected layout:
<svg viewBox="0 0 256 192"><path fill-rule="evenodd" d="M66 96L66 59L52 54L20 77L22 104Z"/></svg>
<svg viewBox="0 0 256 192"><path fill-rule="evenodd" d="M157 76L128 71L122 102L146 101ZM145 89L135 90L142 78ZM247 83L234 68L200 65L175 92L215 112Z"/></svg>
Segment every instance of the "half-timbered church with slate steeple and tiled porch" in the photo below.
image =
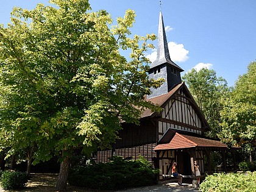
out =
<svg viewBox="0 0 256 192"><path fill-rule="evenodd" d="M140 126L123 124L119 138L113 148L99 151L96 162L108 162L112 155L137 159L139 155L160 169L160 179L171 175L171 166L177 162L178 172L194 175L194 160L197 160L201 174L212 172L210 152L222 154L223 167L226 169L225 153L227 145L205 137L210 130L201 110L182 82L180 66L172 62L166 40L163 16L160 12L158 26L157 59L151 64L149 77L164 78L159 88L152 88L147 100L160 105L160 113L146 110L140 118ZM205 158L207 157L207 158Z"/></svg>

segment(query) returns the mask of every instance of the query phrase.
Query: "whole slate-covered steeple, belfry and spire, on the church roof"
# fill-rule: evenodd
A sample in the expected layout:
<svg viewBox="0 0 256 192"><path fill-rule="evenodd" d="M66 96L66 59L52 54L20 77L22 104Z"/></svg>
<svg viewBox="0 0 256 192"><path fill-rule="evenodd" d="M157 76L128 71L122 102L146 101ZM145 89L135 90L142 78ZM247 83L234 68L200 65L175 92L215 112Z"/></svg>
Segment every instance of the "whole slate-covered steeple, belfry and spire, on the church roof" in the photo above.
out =
<svg viewBox="0 0 256 192"><path fill-rule="evenodd" d="M161 87L152 88L152 94L148 99L168 93L175 85L180 84L180 72L183 71L176 63L172 62L169 55L168 43L165 34L165 25L163 24L163 15L160 12L158 37L157 37L157 59L151 63L149 70L149 78L163 78L165 82Z"/></svg>

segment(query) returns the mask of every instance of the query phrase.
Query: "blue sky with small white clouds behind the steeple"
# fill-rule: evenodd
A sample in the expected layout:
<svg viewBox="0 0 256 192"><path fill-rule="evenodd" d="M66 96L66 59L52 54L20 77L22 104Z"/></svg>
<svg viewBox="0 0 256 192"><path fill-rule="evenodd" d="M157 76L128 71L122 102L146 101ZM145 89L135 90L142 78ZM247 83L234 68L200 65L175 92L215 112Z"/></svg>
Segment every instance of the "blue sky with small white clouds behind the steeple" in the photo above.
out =
<svg viewBox="0 0 256 192"><path fill-rule="evenodd" d="M0 0L0 23L10 22L13 6L33 9L48 0ZM235 84L247 65L256 60L255 0L162 0L163 20L171 59L184 71L202 66L214 69L217 76ZM157 34L158 0L94 0L93 11L107 10L113 20L127 9L135 10L132 34ZM157 41L154 41L157 46ZM155 50L148 51L154 59ZM183 73L182 73L183 75Z"/></svg>

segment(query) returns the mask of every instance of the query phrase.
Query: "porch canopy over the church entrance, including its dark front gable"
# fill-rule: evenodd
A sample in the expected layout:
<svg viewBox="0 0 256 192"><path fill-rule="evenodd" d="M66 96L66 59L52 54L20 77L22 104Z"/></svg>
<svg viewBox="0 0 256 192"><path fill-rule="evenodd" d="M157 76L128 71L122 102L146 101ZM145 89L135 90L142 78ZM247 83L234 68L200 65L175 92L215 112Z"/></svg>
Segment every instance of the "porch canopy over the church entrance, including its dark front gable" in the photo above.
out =
<svg viewBox="0 0 256 192"><path fill-rule="evenodd" d="M226 149L227 145L221 141L201 138L197 136L184 135L169 128L165 135L158 141L154 150L183 149L183 148L221 148Z"/></svg>

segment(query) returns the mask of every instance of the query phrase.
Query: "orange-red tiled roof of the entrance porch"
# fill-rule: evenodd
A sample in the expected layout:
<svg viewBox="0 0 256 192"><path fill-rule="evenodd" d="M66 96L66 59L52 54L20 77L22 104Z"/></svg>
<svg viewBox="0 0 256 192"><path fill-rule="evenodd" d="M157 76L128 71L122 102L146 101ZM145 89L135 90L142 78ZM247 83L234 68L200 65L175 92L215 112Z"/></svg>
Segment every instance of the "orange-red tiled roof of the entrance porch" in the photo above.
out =
<svg viewBox="0 0 256 192"><path fill-rule="evenodd" d="M157 146L155 146L154 150L182 149L195 147L227 148L227 145L221 143L221 141L210 140L208 138L193 137L190 135L183 135L176 132L169 143L158 144Z"/></svg>

